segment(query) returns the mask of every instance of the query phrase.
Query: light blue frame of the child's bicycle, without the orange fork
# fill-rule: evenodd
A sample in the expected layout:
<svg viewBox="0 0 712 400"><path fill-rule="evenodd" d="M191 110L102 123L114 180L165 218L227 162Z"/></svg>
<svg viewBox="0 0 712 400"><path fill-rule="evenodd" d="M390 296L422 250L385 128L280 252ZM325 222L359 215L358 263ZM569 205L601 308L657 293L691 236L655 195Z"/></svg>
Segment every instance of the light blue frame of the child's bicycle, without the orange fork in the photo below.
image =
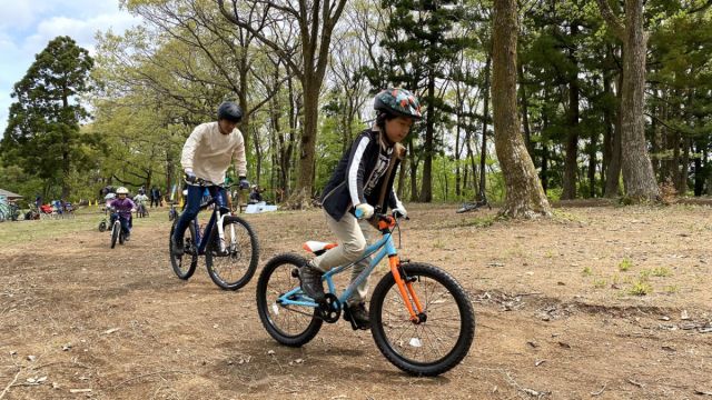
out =
<svg viewBox="0 0 712 400"><path fill-rule="evenodd" d="M380 251L379 251L379 249L380 249ZM368 264L368 268L364 269L358 274L356 280L354 280L344 290L344 292L342 292L342 294L338 297L339 304L346 303L346 300L348 300L352 297L352 294L354 293L354 290L356 290L356 288L365 279L368 278L370 272L373 272L373 270L380 262L380 260L384 259L384 257L386 257L386 256L388 256L388 257L397 256L398 252L396 250L395 244L393 243L393 232L385 233L382 239L379 239L375 243L368 246L366 248L366 250L364 250L364 254L362 256L362 258L358 259L357 261L354 261L354 262L352 262L349 264L345 264L345 266L339 266L339 267L333 268L328 272L324 273L322 279L326 281L326 284L328 287L329 293L334 294L334 293L336 293L336 287L334 284L334 279L332 277L343 272L347 268L350 268L350 267L357 264L358 262L360 262L362 260L364 260L365 258L367 258L368 256L372 256L374 253L375 253L375 256L370 260L370 263ZM315 307L315 308L319 307L319 304L317 302L315 302L313 299L310 299L309 297L307 297L301 291L301 288L299 288L299 287L297 287L295 289L291 289L290 291L286 292L281 297L279 297L279 299L277 299L277 302L279 304L281 304L281 306L304 306L304 307Z"/></svg>

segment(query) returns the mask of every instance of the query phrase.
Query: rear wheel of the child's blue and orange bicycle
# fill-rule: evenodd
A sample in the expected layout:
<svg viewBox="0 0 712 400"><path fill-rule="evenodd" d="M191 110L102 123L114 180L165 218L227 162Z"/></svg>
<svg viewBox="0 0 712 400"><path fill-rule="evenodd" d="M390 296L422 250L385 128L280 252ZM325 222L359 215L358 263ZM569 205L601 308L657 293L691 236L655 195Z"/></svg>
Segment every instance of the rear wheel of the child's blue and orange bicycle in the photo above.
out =
<svg viewBox="0 0 712 400"><path fill-rule="evenodd" d="M313 309L313 314L309 318L309 316L281 307L275 301L281 293L299 286L299 279L293 277L291 271L303 266L305 261L303 257L294 253L275 256L267 262L257 279L257 312L259 313L259 319L269 336L279 343L289 347L301 347L308 343L316 337L324 323L322 319L316 317L316 309ZM279 279L280 281L277 281ZM270 284L270 281L273 284ZM268 299L270 296L274 297L274 300ZM304 308L304 310L309 310L309 308ZM300 319L306 328L287 332L277 324L278 320L289 318L293 321Z"/></svg>

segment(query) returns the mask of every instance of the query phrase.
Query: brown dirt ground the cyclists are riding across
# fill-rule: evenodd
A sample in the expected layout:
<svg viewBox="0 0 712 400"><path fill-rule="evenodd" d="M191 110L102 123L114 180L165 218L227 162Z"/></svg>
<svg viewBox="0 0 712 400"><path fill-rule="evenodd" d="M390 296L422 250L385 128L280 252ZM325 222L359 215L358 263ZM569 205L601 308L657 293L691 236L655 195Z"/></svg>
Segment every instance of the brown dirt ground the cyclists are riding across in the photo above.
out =
<svg viewBox="0 0 712 400"><path fill-rule="evenodd" d="M712 209L565 207L528 222L455 209L412 204L403 230L402 257L449 271L475 307L469 354L438 378L400 372L343 320L279 346L257 276L237 292L204 261L176 278L164 209L113 250L98 214L0 244L0 398L712 399ZM248 216L259 268L329 239L320 212Z"/></svg>

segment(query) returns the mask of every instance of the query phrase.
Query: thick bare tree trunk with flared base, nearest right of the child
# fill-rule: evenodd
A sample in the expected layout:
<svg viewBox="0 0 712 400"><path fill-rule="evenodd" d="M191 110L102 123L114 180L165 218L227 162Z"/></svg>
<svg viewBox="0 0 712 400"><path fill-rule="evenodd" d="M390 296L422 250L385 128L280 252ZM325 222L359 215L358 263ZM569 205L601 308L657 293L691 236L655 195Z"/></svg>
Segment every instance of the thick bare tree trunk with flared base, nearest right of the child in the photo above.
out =
<svg viewBox="0 0 712 400"><path fill-rule="evenodd" d="M496 0L492 109L495 148L506 186L505 204L500 213L514 218L551 217L551 207L520 131L516 108L517 32L516 1Z"/></svg>

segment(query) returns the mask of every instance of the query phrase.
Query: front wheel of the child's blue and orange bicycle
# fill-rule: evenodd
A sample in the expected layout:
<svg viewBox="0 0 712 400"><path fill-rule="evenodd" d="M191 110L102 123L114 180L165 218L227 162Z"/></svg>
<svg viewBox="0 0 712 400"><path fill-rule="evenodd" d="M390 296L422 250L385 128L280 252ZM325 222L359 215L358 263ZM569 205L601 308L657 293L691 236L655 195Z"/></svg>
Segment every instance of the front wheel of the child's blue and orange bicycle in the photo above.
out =
<svg viewBox="0 0 712 400"><path fill-rule="evenodd" d="M407 263L402 270L423 306L424 318L409 320L398 286L388 273L370 299L372 334L380 352L399 369L417 376L437 376L457 366L475 337L469 297L442 269Z"/></svg>

